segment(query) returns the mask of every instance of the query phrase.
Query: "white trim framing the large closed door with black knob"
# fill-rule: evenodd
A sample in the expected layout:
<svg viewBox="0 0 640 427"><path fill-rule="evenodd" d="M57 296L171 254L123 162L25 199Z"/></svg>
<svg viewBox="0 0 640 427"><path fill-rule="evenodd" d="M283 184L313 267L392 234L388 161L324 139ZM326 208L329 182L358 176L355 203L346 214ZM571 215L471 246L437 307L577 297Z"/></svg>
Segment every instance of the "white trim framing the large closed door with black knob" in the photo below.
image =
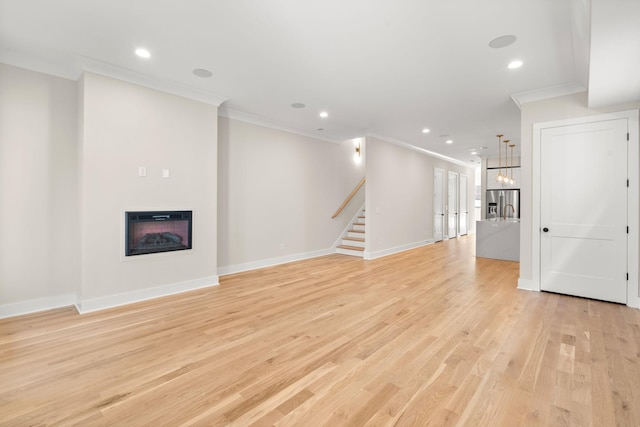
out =
<svg viewBox="0 0 640 427"><path fill-rule="evenodd" d="M541 171L541 138L542 130L576 124L585 124L605 120L628 119L629 144L627 151L627 170L629 175L629 191L627 203L627 217L629 221L629 238L627 246L627 266L629 280L627 282L627 305L640 308L639 267L640 253L640 118L639 110L627 110L617 113L599 114L576 119L559 120L553 122L535 123L533 125L533 174L532 189L532 217L531 217L531 256L532 256L532 286L531 290L540 291L540 177ZM525 230L522 229L521 233Z"/></svg>

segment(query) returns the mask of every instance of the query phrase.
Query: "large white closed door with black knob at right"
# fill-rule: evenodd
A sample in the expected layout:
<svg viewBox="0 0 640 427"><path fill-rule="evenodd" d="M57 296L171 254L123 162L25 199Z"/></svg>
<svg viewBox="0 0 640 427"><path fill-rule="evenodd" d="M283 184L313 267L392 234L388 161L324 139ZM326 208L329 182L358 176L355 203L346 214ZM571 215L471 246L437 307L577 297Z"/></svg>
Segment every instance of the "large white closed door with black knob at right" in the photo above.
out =
<svg viewBox="0 0 640 427"><path fill-rule="evenodd" d="M627 121L543 129L540 287L627 302Z"/></svg>

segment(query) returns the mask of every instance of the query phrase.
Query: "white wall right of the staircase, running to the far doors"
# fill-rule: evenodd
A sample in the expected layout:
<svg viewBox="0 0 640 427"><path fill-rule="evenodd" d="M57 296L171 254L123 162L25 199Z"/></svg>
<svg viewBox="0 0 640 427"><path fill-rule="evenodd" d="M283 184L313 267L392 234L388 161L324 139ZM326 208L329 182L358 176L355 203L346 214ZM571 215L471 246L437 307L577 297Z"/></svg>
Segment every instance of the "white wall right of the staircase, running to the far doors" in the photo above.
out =
<svg viewBox="0 0 640 427"><path fill-rule="evenodd" d="M469 229L473 209L475 169L437 159L376 138L367 138L367 250L376 258L417 247L433 239L433 170L467 175ZM446 203L445 196L445 203ZM446 230L446 224L445 224Z"/></svg>

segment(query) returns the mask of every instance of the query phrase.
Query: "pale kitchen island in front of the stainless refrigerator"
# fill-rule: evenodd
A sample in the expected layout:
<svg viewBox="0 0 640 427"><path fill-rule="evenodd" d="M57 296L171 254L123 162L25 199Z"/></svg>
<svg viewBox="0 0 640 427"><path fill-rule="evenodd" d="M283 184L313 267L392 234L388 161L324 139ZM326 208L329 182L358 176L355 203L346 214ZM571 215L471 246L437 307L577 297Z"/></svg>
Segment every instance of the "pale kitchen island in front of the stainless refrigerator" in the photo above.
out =
<svg viewBox="0 0 640 427"><path fill-rule="evenodd" d="M476 221L476 256L520 261L520 220Z"/></svg>

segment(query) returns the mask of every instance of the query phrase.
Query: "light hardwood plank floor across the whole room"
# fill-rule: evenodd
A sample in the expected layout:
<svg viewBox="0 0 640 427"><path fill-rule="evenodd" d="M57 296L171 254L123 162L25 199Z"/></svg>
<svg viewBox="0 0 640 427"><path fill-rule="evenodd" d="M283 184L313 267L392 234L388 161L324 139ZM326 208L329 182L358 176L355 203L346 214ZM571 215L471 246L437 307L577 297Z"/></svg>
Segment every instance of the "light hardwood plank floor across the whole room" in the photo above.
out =
<svg viewBox="0 0 640 427"><path fill-rule="evenodd" d="M640 310L516 289L473 236L0 321L0 425L640 426Z"/></svg>

